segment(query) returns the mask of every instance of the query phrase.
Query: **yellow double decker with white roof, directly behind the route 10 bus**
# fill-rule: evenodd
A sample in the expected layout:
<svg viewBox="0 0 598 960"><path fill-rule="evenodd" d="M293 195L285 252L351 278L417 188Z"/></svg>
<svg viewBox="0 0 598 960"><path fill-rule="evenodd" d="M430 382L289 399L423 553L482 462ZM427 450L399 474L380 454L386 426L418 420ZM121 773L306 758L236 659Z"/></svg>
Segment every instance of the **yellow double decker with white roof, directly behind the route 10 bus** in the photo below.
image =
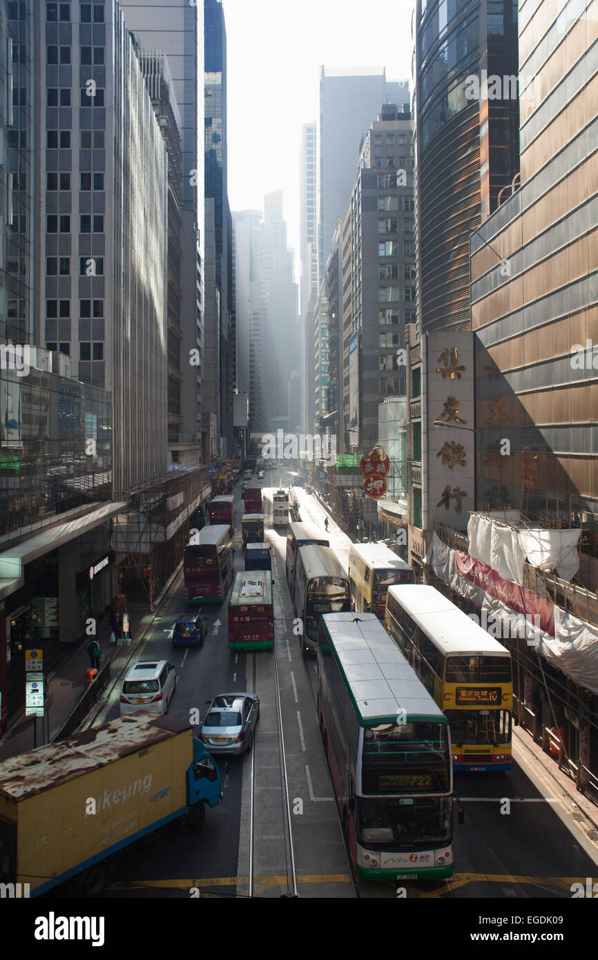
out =
<svg viewBox="0 0 598 960"><path fill-rule="evenodd" d="M386 594L394 584L413 584L413 567L386 543L351 543L348 556L353 610L375 613L384 623Z"/></svg>

